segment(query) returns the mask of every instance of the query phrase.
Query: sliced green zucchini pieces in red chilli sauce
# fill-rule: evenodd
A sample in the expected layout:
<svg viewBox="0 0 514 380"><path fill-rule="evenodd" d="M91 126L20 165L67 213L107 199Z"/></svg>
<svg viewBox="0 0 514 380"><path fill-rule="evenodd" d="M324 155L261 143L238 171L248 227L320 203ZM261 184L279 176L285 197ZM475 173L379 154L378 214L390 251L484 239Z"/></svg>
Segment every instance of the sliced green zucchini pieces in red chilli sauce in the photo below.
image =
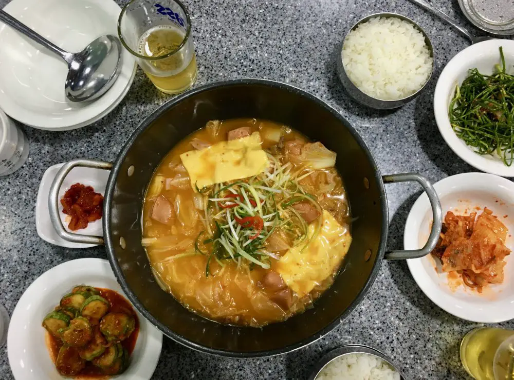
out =
<svg viewBox="0 0 514 380"><path fill-rule="evenodd" d="M77 285L45 316L42 326L62 376L111 376L130 365L139 322L131 304L115 291Z"/></svg>

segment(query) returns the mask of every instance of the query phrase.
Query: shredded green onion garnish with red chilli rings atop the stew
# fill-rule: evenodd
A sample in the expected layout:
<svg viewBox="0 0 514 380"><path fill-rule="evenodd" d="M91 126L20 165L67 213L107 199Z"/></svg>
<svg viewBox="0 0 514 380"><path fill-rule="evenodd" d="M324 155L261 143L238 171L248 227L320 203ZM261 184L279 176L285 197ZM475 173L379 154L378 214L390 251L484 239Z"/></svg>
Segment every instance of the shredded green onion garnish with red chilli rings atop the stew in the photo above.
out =
<svg viewBox="0 0 514 380"><path fill-rule="evenodd" d="M316 197L306 193L299 184L312 170L295 169L290 162L268 153L270 168L253 177L231 183L216 184L196 191L205 194L202 217L206 226L195 239L195 253L207 256L205 274L209 276L214 259L223 270L227 260L247 269L258 265L270 268L270 260L279 256L266 250L266 241L275 231L284 231L293 246L304 250L316 238L322 223L322 210ZM291 170L294 170L292 172ZM303 173L303 174L302 174ZM319 212L314 233L302 214L293 206L309 202ZM203 242L205 253L200 249ZM222 272L217 270L216 274Z"/></svg>

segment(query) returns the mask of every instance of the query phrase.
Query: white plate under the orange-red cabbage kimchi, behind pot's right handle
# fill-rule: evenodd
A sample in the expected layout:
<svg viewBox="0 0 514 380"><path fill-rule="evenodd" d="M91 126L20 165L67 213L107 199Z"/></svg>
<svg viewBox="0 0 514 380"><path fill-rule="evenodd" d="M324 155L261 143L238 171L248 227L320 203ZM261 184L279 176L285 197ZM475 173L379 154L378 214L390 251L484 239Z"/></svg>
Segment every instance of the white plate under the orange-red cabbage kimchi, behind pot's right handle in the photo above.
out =
<svg viewBox="0 0 514 380"><path fill-rule="evenodd" d="M514 183L497 175L464 173L447 177L434 185L443 208L455 214L482 213L484 207L498 216L508 228L505 245L514 246ZM474 209L480 207L481 210ZM507 215L506 217L504 217ZM428 239L432 211L426 193L412 207L403 234L405 249L423 247ZM443 310L467 321L499 323L514 318L514 253L505 258L505 277L502 284L484 287L480 294L442 272L432 255L407 260L414 280L423 292ZM436 269L437 268L437 269Z"/></svg>

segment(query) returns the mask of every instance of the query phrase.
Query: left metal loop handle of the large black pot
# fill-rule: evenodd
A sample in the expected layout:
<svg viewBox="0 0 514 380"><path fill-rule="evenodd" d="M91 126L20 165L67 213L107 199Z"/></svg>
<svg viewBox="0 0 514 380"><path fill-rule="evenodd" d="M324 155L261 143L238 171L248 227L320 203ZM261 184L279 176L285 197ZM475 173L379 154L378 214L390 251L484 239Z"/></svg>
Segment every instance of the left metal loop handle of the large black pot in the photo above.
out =
<svg viewBox="0 0 514 380"><path fill-rule="evenodd" d="M74 159L64 164L57 172L50 186L48 195L48 210L50 211L50 220L57 234L64 240L72 243L96 244L103 245L103 236L80 235L66 231L59 215L59 189L61 188L64 178L75 167L93 168L111 170L113 164L103 161L93 161L91 159Z"/></svg>

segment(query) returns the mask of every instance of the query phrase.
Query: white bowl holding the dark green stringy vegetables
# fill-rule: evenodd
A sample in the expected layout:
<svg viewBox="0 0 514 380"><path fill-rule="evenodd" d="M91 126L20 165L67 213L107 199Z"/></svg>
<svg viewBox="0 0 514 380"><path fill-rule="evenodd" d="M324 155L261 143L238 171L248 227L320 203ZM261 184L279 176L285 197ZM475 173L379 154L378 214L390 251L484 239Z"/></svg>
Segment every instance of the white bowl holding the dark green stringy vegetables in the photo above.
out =
<svg viewBox="0 0 514 380"><path fill-rule="evenodd" d="M458 138L451 128L448 116L456 85L464 81L469 69L477 68L483 74L491 74L494 65L500 63L500 46L503 47L507 72L514 73L514 41L491 39L471 45L455 55L439 76L434 92L434 114L440 133L456 155L486 173L514 177L514 165L508 167L498 157L477 154Z"/></svg>

